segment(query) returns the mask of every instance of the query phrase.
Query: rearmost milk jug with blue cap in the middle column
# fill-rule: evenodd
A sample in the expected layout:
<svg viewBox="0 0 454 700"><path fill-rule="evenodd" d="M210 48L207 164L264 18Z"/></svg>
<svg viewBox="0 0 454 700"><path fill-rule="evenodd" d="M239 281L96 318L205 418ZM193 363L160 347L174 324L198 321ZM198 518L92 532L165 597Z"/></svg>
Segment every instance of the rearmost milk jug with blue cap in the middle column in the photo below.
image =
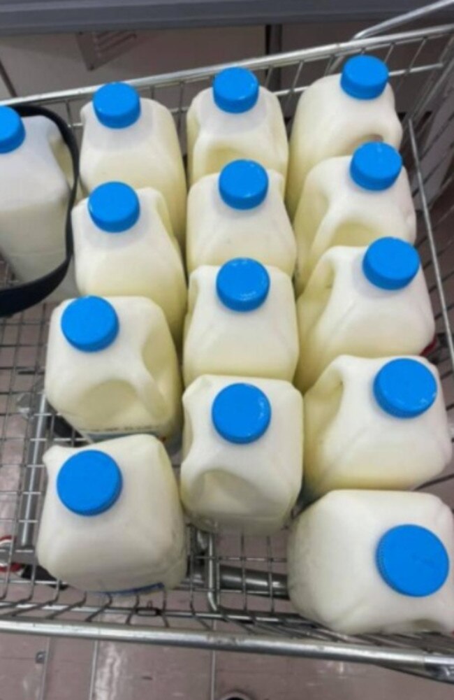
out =
<svg viewBox="0 0 454 700"><path fill-rule="evenodd" d="M287 176L288 141L281 105L254 73L227 68L199 92L187 111L190 183L231 160L250 158Z"/></svg>

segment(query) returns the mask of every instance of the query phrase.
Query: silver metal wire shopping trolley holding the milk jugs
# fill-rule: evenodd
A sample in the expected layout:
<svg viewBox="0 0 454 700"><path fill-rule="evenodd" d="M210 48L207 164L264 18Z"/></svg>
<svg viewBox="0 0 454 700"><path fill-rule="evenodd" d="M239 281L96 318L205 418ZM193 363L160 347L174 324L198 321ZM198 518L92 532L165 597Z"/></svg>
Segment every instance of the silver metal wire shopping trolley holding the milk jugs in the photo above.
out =
<svg viewBox="0 0 454 700"><path fill-rule="evenodd" d="M413 24L402 31L409 21L426 25L429 10L449 5L435 3L383 22L346 43L239 64L276 92L290 126L299 94L346 57L370 52L387 62L404 123L402 152L418 212L418 251L437 321L430 360L438 366L454 430L454 24ZM131 81L143 96L171 109L183 152L187 107L223 67ZM80 106L94 90L20 102L50 106L79 135ZM0 286L13 283L0 260ZM214 536L188 526L187 577L168 593L87 594L53 580L34 555L45 491L43 453L50 444L84 442L43 395L51 311L51 304L41 304L0 322L0 631L356 661L454 683L454 636L344 636L299 617L288 601L285 532L271 538ZM420 488L454 507L453 477L451 465Z"/></svg>

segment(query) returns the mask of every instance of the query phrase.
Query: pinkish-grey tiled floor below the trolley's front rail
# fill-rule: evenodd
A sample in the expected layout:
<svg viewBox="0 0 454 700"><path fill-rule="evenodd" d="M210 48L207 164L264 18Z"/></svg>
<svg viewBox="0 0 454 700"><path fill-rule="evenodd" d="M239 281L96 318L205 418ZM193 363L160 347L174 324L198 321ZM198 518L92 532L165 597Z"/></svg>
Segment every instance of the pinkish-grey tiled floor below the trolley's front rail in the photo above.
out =
<svg viewBox="0 0 454 700"><path fill-rule="evenodd" d="M453 688L381 668L80 640L0 636L0 700L448 700Z"/></svg>

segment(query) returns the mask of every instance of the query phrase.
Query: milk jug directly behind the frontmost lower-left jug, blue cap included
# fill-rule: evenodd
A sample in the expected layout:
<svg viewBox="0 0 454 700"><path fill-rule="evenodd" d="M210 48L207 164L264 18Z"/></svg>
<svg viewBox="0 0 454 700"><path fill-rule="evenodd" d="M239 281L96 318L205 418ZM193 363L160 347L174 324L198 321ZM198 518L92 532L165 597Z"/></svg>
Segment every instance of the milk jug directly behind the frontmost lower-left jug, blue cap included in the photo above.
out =
<svg viewBox="0 0 454 700"><path fill-rule="evenodd" d="M80 297L60 304L50 320L45 394L92 439L175 435L180 374L162 309L145 297Z"/></svg>

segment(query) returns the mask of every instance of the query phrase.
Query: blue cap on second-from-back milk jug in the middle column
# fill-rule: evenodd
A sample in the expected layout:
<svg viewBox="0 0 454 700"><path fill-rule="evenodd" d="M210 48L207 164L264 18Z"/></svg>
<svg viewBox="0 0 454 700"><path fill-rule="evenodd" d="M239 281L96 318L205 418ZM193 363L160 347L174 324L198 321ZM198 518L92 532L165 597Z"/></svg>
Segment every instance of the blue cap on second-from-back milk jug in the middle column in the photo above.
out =
<svg viewBox="0 0 454 700"><path fill-rule="evenodd" d="M255 160L234 160L220 173L219 193L232 209L254 209L267 197L267 171Z"/></svg>

